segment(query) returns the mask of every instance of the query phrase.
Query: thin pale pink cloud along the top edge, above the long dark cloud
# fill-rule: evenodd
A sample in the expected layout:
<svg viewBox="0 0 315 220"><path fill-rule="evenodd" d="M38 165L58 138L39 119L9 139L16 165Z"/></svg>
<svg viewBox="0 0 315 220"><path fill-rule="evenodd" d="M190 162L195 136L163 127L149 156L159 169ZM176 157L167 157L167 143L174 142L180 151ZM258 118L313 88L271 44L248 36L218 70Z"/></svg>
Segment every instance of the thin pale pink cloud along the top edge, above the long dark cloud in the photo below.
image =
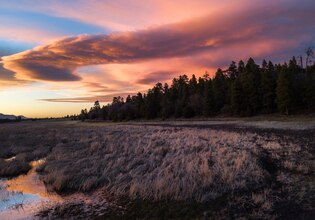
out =
<svg viewBox="0 0 315 220"><path fill-rule="evenodd" d="M84 23L104 27L113 31L131 31L152 25L180 22L204 16L218 10L237 8L248 0L76 0L72 1L32 0L25 2L5 1L2 7L70 18ZM246 5L246 4L244 4Z"/></svg>

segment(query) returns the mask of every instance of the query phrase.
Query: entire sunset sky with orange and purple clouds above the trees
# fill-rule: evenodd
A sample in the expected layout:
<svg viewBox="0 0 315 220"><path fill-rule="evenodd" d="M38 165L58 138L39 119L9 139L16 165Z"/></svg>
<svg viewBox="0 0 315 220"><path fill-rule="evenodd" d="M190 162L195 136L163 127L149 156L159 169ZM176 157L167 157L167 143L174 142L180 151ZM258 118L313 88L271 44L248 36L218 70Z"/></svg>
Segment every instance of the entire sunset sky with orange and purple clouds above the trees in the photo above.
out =
<svg viewBox="0 0 315 220"><path fill-rule="evenodd" d="M313 0L0 0L0 113L60 117L315 44Z"/></svg>

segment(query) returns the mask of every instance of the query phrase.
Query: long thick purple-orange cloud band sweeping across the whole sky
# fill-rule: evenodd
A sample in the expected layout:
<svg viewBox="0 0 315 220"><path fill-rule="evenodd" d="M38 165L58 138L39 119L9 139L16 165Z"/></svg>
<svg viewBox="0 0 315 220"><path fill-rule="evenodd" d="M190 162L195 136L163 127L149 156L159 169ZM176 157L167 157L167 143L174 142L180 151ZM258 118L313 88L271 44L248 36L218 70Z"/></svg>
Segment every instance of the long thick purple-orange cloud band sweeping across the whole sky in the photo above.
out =
<svg viewBox="0 0 315 220"><path fill-rule="evenodd" d="M303 42L315 39L315 3L308 2L303 7L287 3L272 8L258 4L226 9L224 13L139 31L65 38L3 57L4 68L21 80L78 81L81 76L77 68L88 65L188 57L196 66L204 65L205 58L214 66L240 55L272 56L277 50L294 53ZM138 82L151 83L150 78Z"/></svg>

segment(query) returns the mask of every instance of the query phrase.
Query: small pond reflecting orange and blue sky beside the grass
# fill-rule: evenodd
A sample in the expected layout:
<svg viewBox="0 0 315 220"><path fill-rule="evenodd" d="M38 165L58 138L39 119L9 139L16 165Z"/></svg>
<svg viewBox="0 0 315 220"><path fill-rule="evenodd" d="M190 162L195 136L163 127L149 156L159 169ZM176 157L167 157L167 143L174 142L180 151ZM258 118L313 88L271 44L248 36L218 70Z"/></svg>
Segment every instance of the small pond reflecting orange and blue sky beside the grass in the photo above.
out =
<svg viewBox="0 0 315 220"><path fill-rule="evenodd" d="M31 219L38 211L62 201L57 194L48 193L40 181L35 169L43 163L43 159L33 161L26 175L0 179L0 219Z"/></svg>

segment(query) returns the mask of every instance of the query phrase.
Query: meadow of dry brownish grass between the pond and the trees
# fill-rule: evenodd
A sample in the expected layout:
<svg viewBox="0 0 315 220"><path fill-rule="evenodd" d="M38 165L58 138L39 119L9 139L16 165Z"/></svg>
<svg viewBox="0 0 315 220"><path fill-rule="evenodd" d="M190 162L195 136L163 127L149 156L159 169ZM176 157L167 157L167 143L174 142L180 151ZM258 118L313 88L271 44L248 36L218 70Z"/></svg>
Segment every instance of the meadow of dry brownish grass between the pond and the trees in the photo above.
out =
<svg viewBox="0 0 315 220"><path fill-rule="evenodd" d="M1 125L0 143L0 177L44 158L36 171L48 191L97 201L38 218L315 216L314 120L21 122Z"/></svg>

